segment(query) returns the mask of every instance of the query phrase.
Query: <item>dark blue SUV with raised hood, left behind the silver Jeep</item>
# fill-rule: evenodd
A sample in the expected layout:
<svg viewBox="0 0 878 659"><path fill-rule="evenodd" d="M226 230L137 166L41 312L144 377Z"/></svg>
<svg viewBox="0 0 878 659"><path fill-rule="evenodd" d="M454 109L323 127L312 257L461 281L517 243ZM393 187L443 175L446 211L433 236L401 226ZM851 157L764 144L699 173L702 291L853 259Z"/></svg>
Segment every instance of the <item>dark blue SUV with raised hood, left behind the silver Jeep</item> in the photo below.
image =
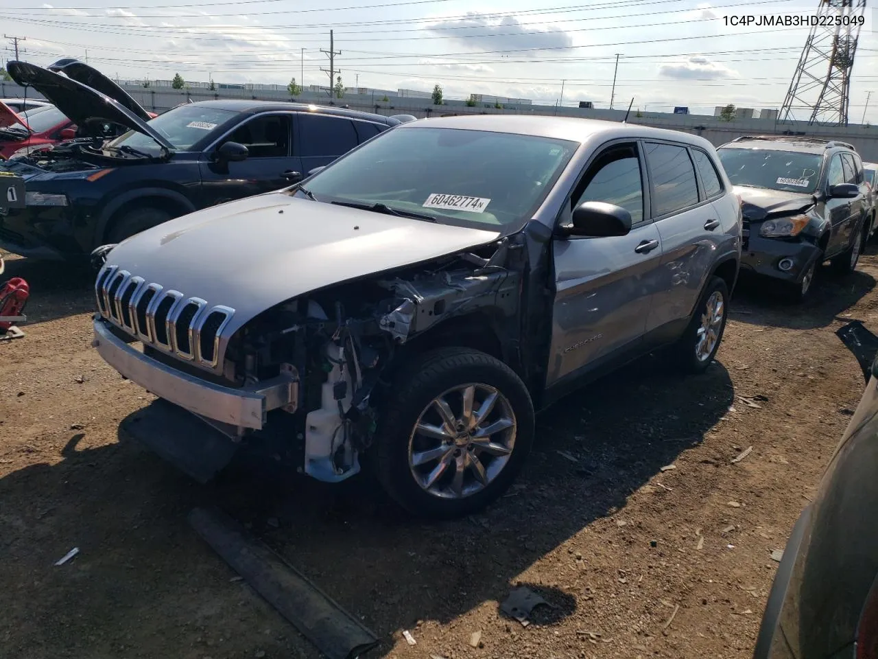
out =
<svg viewBox="0 0 878 659"><path fill-rule="evenodd" d="M6 68L78 126L127 129L109 140L65 142L0 163L25 185L24 207L0 206L0 247L27 257L86 258L98 245L176 216L291 185L400 123L252 100L179 105L148 119L119 85L83 62Z"/></svg>

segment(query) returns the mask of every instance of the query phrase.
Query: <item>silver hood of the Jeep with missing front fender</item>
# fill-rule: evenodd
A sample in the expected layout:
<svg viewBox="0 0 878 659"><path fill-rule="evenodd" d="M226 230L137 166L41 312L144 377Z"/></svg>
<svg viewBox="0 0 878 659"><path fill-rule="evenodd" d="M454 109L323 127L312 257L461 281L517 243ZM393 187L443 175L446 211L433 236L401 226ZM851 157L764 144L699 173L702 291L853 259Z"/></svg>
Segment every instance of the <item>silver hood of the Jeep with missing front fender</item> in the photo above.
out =
<svg viewBox="0 0 878 659"><path fill-rule="evenodd" d="M106 264L211 306L234 308L232 322L223 331L230 337L255 315L304 293L499 237L499 231L271 192L150 228L119 243Z"/></svg>

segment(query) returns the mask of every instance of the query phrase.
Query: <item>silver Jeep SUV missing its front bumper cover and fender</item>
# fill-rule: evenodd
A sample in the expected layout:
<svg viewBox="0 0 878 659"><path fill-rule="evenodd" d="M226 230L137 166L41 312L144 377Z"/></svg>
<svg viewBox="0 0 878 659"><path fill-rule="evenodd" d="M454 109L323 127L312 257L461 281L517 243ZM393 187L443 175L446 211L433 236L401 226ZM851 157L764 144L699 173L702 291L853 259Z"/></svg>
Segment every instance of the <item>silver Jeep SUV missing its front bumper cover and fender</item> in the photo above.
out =
<svg viewBox="0 0 878 659"><path fill-rule="evenodd" d="M326 482L364 456L409 511L454 517L507 489L572 387L661 346L703 371L740 251L702 138L426 119L102 250L94 345L227 445L270 427ZM194 434L168 453L197 461Z"/></svg>

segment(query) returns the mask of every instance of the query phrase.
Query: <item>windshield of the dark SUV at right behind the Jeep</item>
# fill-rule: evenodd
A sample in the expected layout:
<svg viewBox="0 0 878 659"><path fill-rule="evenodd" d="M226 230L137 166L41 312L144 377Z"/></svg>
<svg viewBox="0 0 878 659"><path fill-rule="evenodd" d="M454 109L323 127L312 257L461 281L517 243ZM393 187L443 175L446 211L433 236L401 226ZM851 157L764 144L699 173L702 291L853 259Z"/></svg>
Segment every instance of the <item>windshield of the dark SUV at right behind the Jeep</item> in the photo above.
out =
<svg viewBox="0 0 878 659"><path fill-rule="evenodd" d="M785 192L814 192L823 156L767 148L716 150L732 185Z"/></svg>

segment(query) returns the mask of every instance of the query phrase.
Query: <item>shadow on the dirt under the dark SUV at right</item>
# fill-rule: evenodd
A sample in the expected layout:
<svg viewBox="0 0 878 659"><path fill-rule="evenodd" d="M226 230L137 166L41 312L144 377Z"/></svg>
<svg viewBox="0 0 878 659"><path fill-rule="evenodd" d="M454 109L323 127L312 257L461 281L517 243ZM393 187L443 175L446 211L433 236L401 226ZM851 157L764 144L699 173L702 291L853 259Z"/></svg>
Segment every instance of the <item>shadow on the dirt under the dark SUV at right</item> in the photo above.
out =
<svg viewBox="0 0 878 659"><path fill-rule="evenodd" d="M861 270L839 277L828 267L823 267L818 270L812 286L809 299L795 302L788 291L773 282L742 277L735 287L731 317L739 322L768 327L826 327L865 297L874 288L875 279Z"/></svg>

